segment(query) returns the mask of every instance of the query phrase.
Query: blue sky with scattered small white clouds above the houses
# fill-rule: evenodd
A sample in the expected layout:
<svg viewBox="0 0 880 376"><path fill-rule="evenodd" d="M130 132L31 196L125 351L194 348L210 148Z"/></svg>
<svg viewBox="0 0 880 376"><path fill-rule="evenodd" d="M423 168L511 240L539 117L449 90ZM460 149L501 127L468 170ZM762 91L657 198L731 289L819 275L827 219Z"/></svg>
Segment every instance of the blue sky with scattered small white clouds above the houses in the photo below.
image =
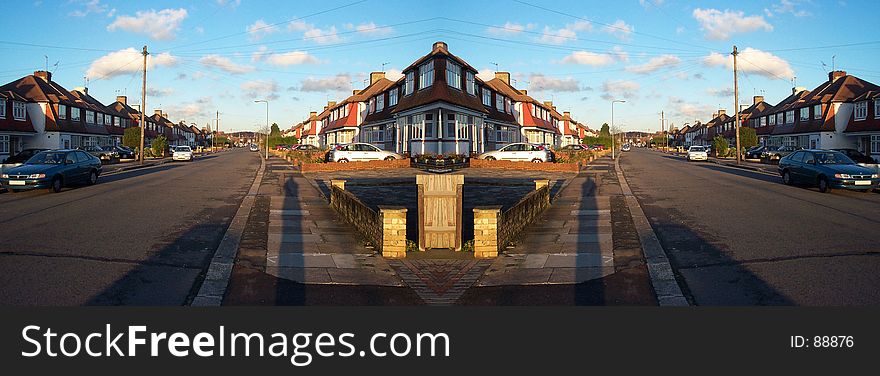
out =
<svg viewBox="0 0 880 376"><path fill-rule="evenodd" d="M880 38L867 32L873 0L765 1L16 1L0 24L0 83L48 69L104 104L140 103L172 121L252 130L289 128L390 78L435 41L591 128L655 131L731 113L733 46L739 103L775 104L812 89L832 68L880 83ZM18 16L14 16L18 15ZM35 23L35 18L39 18ZM38 25L38 26L34 26ZM851 27L852 26L852 27Z"/></svg>

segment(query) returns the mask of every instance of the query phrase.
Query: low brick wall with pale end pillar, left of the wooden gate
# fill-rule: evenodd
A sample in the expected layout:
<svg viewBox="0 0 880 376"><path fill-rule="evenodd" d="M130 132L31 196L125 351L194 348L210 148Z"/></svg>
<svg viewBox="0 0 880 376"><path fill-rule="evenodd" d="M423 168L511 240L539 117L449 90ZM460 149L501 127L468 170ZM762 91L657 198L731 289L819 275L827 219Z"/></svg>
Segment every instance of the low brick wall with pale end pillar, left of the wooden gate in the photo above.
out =
<svg viewBox="0 0 880 376"><path fill-rule="evenodd" d="M382 256L406 257L406 208L381 206L377 213L345 190L345 180L330 181L330 207Z"/></svg>

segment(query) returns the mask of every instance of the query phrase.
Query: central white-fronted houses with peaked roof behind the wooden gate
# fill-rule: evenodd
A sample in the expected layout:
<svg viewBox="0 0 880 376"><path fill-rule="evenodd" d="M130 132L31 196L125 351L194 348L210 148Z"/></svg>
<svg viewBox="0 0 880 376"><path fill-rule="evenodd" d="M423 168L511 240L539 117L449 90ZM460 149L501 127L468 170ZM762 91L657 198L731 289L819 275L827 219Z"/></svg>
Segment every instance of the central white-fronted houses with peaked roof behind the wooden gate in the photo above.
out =
<svg viewBox="0 0 880 376"><path fill-rule="evenodd" d="M289 134L318 147L367 142L410 155L482 153L511 142L560 147L596 135L552 102L514 88L507 72L480 79L444 42L401 73L396 81L371 73L366 88L311 112Z"/></svg>

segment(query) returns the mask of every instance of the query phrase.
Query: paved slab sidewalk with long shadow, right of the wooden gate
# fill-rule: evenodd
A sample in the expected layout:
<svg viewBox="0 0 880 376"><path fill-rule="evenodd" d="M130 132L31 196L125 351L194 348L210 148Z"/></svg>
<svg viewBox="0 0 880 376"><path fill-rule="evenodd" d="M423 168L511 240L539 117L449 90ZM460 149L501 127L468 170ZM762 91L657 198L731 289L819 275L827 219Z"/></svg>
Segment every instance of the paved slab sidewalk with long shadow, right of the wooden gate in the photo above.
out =
<svg viewBox="0 0 880 376"><path fill-rule="evenodd" d="M477 286L574 284L614 273L611 200L597 186L611 162L599 159L573 178Z"/></svg>

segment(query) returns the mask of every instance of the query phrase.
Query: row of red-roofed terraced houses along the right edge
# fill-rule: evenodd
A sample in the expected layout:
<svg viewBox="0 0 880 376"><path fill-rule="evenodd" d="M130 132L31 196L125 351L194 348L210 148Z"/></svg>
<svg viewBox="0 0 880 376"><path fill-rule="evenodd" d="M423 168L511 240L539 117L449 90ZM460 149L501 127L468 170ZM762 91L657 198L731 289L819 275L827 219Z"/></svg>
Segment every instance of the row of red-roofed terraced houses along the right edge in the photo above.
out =
<svg viewBox="0 0 880 376"><path fill-rule="evenodd" d="M684 146L709 145L716 135L733 142L735 116L719 110L712 120L685 126L674 137ZM740 123L755 129L761 145L810 149L857 149L880 157L880 86L844 71L828 74L813 90L794 88L776 105L753 97L740 111Z"/></svg>

